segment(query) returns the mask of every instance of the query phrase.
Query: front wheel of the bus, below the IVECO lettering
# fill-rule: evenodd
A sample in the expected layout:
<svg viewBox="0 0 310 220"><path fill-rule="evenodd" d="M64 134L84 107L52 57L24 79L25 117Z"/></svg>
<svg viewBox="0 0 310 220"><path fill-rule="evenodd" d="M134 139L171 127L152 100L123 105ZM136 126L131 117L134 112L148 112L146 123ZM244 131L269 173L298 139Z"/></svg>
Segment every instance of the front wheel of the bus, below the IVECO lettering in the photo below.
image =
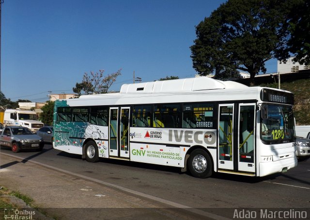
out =
<svg viewBox="0 0 310 220"><path fill-rule="evenodd" d="M187 161L189 172L197 178L207 178L212 175L212 161L209 154L202 150L194 150Z"/></svg>

